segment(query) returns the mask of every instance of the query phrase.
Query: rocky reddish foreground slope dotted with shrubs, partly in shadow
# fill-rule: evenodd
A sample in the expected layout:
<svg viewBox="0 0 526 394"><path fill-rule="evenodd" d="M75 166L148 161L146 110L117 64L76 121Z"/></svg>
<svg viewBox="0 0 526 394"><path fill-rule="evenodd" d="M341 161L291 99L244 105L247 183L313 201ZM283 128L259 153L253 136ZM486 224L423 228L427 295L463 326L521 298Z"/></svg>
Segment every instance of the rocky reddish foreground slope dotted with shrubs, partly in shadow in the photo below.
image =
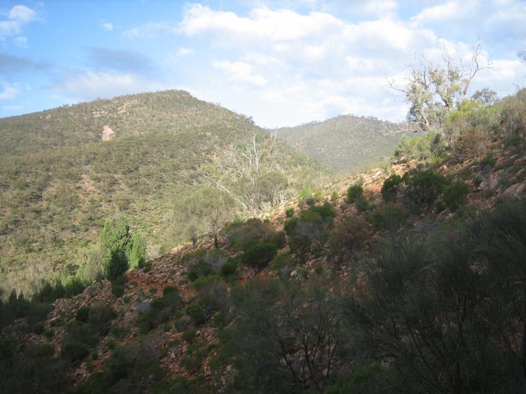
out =
<svg viewBox="0 0 526 394"><path fill-rule="evenodd" d="M525 93L465 111L449 146L413 139L387 168L232 220L218 247L53 303L12 293L0 388L523 392Z"/></svg>

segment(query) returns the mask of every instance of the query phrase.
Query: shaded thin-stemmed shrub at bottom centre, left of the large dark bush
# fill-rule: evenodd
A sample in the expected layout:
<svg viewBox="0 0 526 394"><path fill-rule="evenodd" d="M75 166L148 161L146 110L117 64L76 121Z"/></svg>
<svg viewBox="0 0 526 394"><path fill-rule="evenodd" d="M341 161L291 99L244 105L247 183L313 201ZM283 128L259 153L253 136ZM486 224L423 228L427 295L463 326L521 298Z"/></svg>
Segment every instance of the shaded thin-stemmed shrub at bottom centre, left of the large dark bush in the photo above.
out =
<svg viewBox="0 0 526 394"><path fill-rule="evenodd" d="M253 279L232 298L236 325L225 350L238 377L248 377L242 391L294 393L307 382L320 391L339 343L338 303L328 289Z"/></svg>

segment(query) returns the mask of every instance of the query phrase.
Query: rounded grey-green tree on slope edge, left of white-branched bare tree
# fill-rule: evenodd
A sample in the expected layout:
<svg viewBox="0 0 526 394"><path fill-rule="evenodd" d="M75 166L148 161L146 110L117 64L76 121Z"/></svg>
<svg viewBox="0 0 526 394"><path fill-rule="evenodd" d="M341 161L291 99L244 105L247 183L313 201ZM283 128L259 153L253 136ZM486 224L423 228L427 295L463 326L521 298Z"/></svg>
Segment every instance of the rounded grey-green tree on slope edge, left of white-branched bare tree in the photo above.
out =
<svg viewBox="0 0 526 394"><path fill-rule="evenodd" d="M237 211L234 199L217 188L202 188L181 201L175 209L176 233L184 234L194 244L201 234L219 247L219 231Z"/></svg>

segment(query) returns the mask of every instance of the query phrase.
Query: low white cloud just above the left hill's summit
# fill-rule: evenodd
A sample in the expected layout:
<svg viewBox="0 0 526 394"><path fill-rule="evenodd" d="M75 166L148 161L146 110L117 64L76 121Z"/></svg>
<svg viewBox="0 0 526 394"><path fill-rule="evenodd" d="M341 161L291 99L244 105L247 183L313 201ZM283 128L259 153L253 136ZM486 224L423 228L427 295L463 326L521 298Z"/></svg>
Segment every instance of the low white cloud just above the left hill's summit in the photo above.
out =
<svg viewBox="0 0 526 394"><path fill-rule="evenodd" d="M134 74L86 71L84 74L71 75L57 82L53 88L67 95L90 100L96 97L112 98L143 91L155 91L162 89L163 86L156 81Z"/></svg>

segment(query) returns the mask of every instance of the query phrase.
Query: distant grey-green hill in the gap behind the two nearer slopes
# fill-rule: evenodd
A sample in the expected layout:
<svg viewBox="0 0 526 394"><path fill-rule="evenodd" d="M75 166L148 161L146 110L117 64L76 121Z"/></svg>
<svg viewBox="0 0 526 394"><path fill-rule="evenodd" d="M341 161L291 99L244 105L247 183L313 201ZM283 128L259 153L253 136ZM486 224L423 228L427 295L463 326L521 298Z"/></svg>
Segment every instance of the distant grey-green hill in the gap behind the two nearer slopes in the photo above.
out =
<svg viewBox="0 0 526 394"><path fill-rule="evenodd" d="M371 117L340 115L322 122L272 130L292 147L338 173L358 172L388 159L404 125Z"/></svg>

